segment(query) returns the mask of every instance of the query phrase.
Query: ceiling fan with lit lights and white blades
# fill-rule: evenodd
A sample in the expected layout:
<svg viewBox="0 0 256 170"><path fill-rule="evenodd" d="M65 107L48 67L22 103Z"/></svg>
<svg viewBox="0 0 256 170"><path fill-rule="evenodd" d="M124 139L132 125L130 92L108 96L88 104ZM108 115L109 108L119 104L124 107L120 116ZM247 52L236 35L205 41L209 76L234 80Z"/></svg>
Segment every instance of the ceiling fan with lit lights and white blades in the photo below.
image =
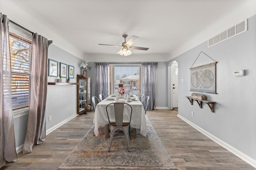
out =
<svg viewBox="0 0 256 170"><path fill-rule="evenodd" d="M110 45L110 46L115 46L115 47L122 47L116 54L120 54L120 55L123 55L123 56L128 56L128 55L132 54L132 51L130 49L148 50L148 48L144 48L144 47L131 46L134 43L134 41L139 37L132 35L132 37L126 42L126 37L128 35L124 34L122 36L124 38L124 42L122 43L122 45ZM109 45L109 44L98 44L98 45Z"/></svg>

